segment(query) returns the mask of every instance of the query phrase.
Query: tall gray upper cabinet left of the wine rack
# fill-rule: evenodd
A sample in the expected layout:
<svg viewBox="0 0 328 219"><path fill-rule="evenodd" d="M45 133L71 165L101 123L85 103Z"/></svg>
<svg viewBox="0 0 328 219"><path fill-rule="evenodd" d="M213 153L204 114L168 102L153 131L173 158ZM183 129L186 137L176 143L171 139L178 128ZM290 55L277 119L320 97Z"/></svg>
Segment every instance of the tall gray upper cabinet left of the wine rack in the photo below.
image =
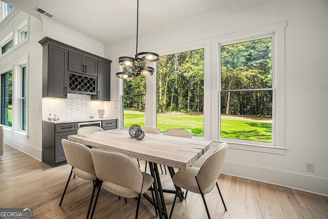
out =
<svg viewBox="0 0 328 219"><path fill-rule="evenodd" d="M67 98L68 50L53 45L43 48L42 97Z"/></svg>

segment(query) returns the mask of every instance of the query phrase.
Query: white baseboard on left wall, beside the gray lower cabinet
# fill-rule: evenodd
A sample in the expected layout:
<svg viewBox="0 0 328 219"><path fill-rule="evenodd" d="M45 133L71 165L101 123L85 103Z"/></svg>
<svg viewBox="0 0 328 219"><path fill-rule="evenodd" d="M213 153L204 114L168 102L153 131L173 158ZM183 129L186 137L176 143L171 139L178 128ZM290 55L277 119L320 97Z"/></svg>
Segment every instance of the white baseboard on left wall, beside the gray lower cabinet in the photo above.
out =
<svg viewBox="0 0 328 219"><path fill-rule="evenodd" d="M14 147L14 145L17 145L17 142L19 142L19 148ZM9 145L12 148L15 148L19 151L22 151L23 153L26 153L27 155L35 158L38 161L42 161L42 150L37 149L31 145L25 144L23 142L20 142L12 137L9 137L6 135L5 138L5 144Z"/></svg>

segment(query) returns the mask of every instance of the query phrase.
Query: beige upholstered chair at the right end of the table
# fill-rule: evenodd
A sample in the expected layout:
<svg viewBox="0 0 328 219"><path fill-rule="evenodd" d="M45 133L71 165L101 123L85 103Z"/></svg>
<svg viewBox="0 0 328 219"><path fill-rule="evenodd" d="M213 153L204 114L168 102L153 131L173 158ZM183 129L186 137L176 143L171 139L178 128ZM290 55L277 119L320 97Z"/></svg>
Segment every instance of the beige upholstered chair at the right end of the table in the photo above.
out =
<svg viewBox="0 0 328 219"><path fill-rule="evenodd" d="M224 210L227 211L226 204L224 204L223 197L217 183L217 178L222 171L227 151L228 144L224 143L221 145L221 147L218 147L217 150L215 150L215 152L203 163L200 168L190 167L187 170L179 170L173 176L172 181L177 186L177 189L171 209L170 218L173 213L179 188L200 194L204 202L207 215L209 218L211 218L204 194L210 193L216 185L224 206Z"/></svg>

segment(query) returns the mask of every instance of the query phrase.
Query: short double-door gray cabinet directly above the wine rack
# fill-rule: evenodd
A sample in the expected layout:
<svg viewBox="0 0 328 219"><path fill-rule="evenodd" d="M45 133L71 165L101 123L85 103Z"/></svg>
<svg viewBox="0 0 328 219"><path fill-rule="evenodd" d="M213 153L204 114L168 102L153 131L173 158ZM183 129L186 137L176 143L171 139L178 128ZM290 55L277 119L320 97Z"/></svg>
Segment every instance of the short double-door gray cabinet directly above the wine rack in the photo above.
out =
<svg viewBox="0 0 328 219"><path fill-rule="evenodd" d="M85 55L69 51L68 54L68 70L83 73L90 76L97 76L98 61Z"/></svg>

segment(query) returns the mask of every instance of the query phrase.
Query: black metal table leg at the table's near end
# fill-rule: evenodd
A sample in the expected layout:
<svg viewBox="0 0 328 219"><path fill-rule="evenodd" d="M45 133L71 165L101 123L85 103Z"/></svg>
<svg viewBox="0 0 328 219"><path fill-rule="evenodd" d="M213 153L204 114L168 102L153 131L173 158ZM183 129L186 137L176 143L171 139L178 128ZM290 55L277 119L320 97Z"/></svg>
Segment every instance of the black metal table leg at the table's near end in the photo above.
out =
<svg viewBox="0 0 328 219"><path fill-rule="evenodd" d="M156 196L156 204L158 207L159 218L168 218L168 212L166 210L165 199L163 195L162 185L160 182L159 172L156 163L149 162L150 172L154 178L154 190Z"/></svg>

